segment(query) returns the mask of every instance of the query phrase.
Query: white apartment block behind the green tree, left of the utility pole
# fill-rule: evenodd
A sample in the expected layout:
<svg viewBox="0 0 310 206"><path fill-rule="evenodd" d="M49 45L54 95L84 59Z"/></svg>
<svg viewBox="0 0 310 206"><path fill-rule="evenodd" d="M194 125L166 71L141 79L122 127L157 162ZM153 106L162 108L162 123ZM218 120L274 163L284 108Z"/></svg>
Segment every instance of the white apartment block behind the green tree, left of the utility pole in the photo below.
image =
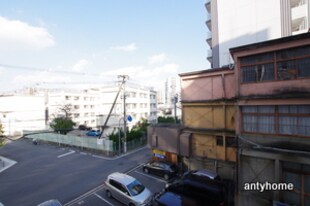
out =
<svg viewBox="0 0 310 206"><path fill-rule="evenodd" d="M65 116L62 108L67 106L71 119L77 125L96 127L99 100L99 90L51 90L47 99L49 122L55 117Z"/></svg>

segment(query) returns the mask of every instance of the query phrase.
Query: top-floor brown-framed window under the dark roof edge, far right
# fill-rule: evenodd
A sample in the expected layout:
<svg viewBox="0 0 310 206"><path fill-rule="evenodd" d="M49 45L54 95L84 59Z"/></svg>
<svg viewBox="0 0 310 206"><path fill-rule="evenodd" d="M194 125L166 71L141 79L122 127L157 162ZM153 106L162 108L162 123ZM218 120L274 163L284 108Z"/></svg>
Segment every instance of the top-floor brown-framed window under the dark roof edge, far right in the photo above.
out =
<svg viewBox="0 0 310 206"><path fill-rule="evenodd" d="M310 77L310 47L240 58L243 83Z"/></svg>

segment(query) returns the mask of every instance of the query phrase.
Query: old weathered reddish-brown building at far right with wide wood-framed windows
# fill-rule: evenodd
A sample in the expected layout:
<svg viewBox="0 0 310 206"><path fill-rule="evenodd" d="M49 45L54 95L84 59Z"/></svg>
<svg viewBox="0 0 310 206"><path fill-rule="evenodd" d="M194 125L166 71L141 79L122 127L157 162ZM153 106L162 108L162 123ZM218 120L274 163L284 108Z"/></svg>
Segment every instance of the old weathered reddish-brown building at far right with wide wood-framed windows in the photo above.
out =
<svg viewBox="0 0 310 206"><path fill-rule="evenodd" d="M236 65L236 205L309 205L310 33L230 51ZM249 191L249 183L275 189Z"/></svg>

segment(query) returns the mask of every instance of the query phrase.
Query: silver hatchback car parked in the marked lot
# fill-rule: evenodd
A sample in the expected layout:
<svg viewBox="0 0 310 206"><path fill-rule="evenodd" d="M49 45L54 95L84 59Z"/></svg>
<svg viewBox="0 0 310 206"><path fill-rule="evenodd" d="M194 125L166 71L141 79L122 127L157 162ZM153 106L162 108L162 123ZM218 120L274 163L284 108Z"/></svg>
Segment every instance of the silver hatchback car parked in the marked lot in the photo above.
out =
<svg viewBox="0 0 310 206"><path fill-rule="evenodd" d="M113 197L129 206L151 205L151 191L134 177L115 172L108 176L105 184L107 196L110 198Z"/></svg>

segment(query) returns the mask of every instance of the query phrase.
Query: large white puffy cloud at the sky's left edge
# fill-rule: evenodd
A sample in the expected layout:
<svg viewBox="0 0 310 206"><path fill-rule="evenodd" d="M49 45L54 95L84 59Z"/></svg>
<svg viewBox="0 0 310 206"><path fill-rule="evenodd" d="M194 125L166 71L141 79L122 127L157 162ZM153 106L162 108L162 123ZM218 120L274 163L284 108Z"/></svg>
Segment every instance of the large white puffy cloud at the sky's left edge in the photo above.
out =
<svg viewBox="0 0 310 206"><path fill-rule="evenodd" d="M43 27L9 20L0 16L0 45L6 50L42 49L55 45L54 38Z"/></svg>

